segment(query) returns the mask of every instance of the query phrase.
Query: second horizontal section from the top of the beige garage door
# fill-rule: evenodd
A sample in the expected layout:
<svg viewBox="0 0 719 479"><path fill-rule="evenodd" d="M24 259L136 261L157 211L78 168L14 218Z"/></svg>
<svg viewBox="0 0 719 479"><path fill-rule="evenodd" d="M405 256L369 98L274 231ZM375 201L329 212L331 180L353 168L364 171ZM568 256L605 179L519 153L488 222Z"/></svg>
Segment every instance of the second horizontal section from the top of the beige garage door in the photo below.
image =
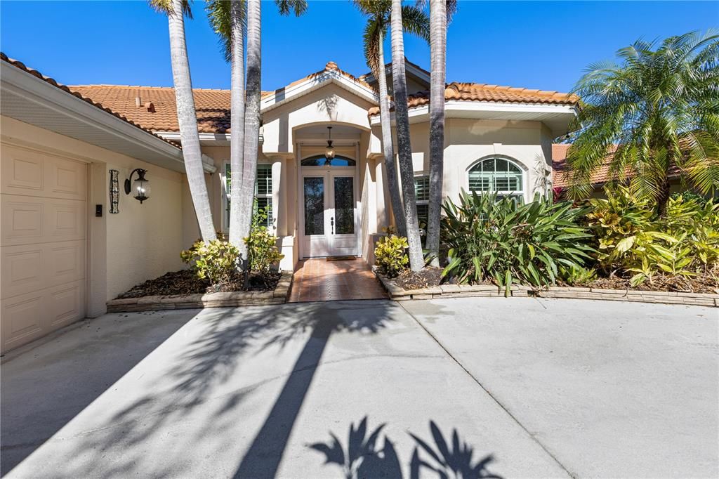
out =
<svg viewBox="0 0 719 479"><path fill-rule="evenodd" d="M28 245L85 238L84 201L2 195L2 245Z"/></svg>

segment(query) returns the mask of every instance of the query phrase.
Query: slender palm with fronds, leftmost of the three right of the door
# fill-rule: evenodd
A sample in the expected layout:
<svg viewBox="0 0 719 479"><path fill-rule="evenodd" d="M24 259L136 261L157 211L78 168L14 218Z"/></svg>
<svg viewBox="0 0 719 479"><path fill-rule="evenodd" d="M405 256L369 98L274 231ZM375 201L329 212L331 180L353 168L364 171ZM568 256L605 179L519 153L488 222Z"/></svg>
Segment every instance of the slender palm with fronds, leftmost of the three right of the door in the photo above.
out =
<svg viewBox="0 0 719 479"><path fill-rule="evenodd" d="M382 149L387 170L387 182L390 190L390 204L395 216L395 224L400 236L407 235L407 225L402 196L395 166L395 155L392 142L392 125L390 124L390 101L387 94L387 76L385 74L384 38L390 24L391 0L354 0L359 12L367 16L365 25L364 46L367 66L377 78L379 87L380 127L382 129ZM413 33L429 41L429 19L416 6L403 6L402 22L405 32Z"/></svg>

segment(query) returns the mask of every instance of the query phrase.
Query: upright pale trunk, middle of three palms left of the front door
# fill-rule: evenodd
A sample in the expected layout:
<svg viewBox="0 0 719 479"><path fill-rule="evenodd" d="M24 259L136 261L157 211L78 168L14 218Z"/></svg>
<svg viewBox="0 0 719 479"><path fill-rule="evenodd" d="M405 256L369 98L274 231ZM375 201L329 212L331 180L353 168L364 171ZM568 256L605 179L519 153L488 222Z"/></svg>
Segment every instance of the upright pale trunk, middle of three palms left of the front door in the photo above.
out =
<svg viewBox="0 0 719 479"><path fill-rule="evenodd" d="M244 152L244 35L242 32L242 0L230 5L232 35L232 89L230 91L230 214L229 242L242 247L240 223L242 206L242 153Z"/></svg>

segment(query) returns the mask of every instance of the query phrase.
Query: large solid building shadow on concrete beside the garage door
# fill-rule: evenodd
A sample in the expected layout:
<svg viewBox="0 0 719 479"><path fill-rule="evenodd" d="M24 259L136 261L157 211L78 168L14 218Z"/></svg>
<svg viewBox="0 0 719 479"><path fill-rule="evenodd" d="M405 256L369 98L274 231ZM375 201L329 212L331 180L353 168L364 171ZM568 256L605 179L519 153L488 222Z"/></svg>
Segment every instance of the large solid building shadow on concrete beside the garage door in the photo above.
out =
<svg viewBox="0 0 719 479"><path fill-rule="evenodd" d="M32 360L25 352L3 362L0 475L37 450L193 316L191 311L139 315L142 321L117 314L79 322L62 341L38 345Z"/></svg>

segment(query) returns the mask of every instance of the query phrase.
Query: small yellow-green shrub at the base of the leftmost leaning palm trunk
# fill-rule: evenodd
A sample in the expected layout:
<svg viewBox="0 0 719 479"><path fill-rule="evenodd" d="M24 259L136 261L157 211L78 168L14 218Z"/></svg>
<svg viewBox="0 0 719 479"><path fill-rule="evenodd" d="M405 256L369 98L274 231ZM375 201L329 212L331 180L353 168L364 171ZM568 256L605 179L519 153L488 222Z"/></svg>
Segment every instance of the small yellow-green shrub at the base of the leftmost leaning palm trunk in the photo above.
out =
<svg viewBox="0 0 719 479"><path fill-rule="evenodd" d="M198 239L189 250L180 252L180 257L191 265L198 278L219 284L232 277L237 268L239 250L221 239L211 242Z"/></svg>

